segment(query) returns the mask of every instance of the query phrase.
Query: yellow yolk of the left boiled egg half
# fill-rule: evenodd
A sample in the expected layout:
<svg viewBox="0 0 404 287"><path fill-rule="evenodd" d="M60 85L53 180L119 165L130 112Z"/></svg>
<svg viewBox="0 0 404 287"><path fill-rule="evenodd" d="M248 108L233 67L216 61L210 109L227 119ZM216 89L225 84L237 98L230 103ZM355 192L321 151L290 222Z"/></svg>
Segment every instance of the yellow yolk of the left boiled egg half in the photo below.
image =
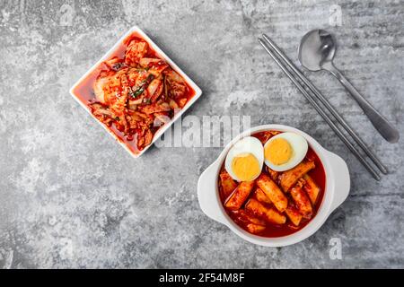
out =
<svg viewBox="0 0 404 287"><path fill-rule="evenodd" d="M261 171L259 161L249 152L241 153L233 158L232 170L241 181L250 181Z"/></svg>

